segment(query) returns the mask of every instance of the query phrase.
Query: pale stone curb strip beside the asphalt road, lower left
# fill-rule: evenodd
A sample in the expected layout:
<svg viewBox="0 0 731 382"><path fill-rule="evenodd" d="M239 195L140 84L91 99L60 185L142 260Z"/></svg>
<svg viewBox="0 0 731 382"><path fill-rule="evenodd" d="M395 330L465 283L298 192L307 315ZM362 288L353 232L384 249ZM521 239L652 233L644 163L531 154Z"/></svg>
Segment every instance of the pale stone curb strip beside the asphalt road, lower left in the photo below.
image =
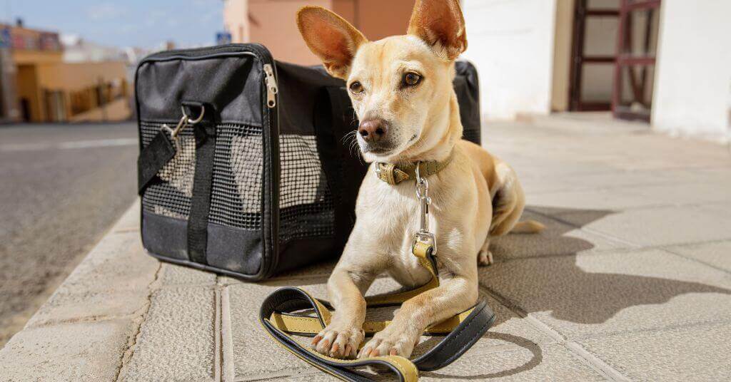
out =
<svg viewBox="0 0 731 382"><path fill-rule="evenodd" d="M0 381L114 381L161 265L146 256L139 199L0 350Z"/></svg>

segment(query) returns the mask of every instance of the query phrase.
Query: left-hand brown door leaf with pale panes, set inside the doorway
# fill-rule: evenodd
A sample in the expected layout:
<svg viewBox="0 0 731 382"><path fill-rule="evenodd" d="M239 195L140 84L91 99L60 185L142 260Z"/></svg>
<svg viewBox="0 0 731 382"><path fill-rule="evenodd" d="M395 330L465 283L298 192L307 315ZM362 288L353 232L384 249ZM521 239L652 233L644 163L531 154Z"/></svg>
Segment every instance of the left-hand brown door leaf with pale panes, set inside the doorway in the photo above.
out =
<svg viewBox="0 0 731 382"><path fill-rule="evenodd" d="M611 110L621 0L575 0L569 110Z"/></svg>

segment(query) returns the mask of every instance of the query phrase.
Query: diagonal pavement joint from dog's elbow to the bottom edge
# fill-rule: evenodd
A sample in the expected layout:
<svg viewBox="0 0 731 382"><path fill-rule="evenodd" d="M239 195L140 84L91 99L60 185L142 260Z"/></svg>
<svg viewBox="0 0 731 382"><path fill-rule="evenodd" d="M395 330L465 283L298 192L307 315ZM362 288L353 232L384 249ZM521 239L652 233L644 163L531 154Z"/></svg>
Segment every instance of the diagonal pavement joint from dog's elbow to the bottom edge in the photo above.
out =
<svg viewBox="0 0 731 382"><path fill-rule="evenodd" d="M524 318L526 322L531 324L534 328L538 329L539 332L544 333L545 335L548 335L548 337L553 338L553 340L556 340L557 343L564 345L565 348L567 348L569 351L571 351L573 354L580 356L586 363L588 364L591 369L596 370L597 373L604 376L605 378L609 379L610 381L615 382L624 382L624 381L630 381L629 378L626 378L622 373L620 373L618 370L616 370L614 367L611 367L609 364L604 362L602 359L599 359L599 357L594 356L594 354L591 354L589 351L587 351L585 348L583 348L578 343L575 343L571 340L568 340L564 335L561 335L561 333L557 332L555 329L551 328L547 324L545 324L543 321L540 321L538 318L535 318L534 316L531 316L530 314L526 313L525 310L518 307L515 304L512 304L509 299L506 299L501 294L497 293L496 291L493 291L490 288L486 288L484 286L480 286L480 289L482 291L485 291L486 294L488 294L490 297L493 297L493 299L496 299L501 305L506 307L508 310L510 310L512 313L514 313L516 316L520 318Z"/></svg>

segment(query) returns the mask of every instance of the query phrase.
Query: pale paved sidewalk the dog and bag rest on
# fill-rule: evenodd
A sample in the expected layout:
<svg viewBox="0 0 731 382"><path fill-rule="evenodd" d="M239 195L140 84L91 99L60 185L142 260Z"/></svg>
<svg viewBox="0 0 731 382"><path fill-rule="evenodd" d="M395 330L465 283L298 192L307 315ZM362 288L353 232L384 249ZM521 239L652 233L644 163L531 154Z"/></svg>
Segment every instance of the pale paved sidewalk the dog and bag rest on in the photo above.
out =
<svg viewBox="0 0 731 382"><path fill-rule="evenodd" d="M496 240L480 289L498 321L423 381L729 378L727 147L560 116L491 123L483 140L548 229ZM333 380L257 323L279 286L326 297L332 264L254 284L160 263L143 253L138 210L0 351L0 381Z"/></svg>

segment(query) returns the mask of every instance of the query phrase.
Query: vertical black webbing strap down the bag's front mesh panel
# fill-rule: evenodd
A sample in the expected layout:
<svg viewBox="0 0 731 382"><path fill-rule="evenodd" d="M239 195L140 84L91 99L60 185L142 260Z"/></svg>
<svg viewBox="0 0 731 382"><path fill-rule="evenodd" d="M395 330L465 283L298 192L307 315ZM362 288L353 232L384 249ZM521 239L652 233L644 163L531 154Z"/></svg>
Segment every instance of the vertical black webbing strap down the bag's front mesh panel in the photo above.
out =
<svg viewBox="0 0 731 382"><path fill-rule="evenodd" d="M195 174L188 218L188 258L200 264L208 264L205 259L205 250L208 245L208 212L211 210L216 126L210 121L202 121L193 126L193 131L195 134Z"/></svg>

